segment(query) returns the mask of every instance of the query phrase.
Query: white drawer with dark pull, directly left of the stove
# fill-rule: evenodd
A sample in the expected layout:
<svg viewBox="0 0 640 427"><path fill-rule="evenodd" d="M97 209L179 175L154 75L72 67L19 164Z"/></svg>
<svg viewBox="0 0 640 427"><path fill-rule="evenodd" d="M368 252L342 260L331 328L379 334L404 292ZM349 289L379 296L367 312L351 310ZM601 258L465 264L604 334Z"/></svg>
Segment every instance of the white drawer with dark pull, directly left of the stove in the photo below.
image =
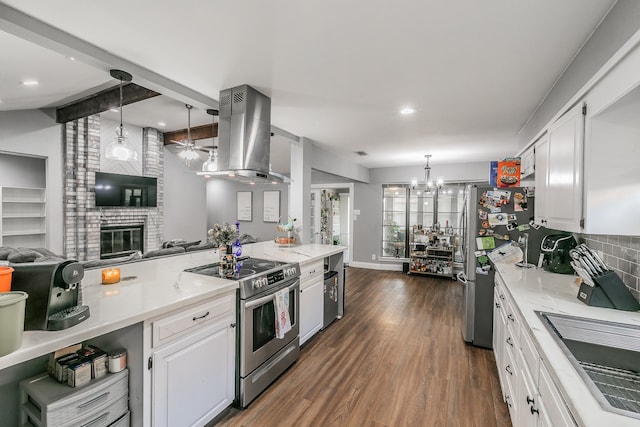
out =
<svg viewBox="0 0 640 427"><path fill-rule="evenodd" d="M220 316L227 314L235 316L235 307L236 295L231 293L155 320L151 325L151 345L157 347L170 342Z"/></svg>

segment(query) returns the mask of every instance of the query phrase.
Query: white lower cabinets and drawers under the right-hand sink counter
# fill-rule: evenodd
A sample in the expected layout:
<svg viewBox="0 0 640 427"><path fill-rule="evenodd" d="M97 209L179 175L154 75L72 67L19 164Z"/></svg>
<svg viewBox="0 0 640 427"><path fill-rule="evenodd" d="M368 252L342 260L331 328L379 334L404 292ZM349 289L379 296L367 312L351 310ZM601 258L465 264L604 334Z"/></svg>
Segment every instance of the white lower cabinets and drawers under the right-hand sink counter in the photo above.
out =
<svg viewBox="0 0 640 427"><path fill-rule="evenodd" d="M516 427L573 427L576 424L569 409L515 307L496 275L493 349L511 422Z"/></svg>

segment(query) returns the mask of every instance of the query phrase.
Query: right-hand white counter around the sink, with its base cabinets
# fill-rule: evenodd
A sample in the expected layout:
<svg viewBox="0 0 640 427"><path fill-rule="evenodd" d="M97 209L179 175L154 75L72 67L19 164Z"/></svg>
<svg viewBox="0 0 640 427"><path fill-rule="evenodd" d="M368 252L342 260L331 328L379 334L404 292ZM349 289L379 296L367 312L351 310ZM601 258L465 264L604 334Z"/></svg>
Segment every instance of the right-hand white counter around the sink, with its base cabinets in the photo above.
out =
<svg viewBox="0 0 640 427"><path fill-rule="evenodd" d="M498 312L501 309L506 309L506 316L512 315L505 322L508 328L504 331L511 336L501 336L500 314L494 313L494 352L496 352L499 373L505 377L518 378L516 383L520 383L520 390L527 389L522 384L524 377L530 378L532 383L539 381L542 384L543 377L548 373L552 386L559 393L556 403L559 404L560 409L563 407L568 409L571 418L579 426L639 426L640 419L602 409L535 311L617 322L636 327L640 326L640 312L591 307L583 304L577 299L579 286L574 283L576 276L573 275L549 273L540 268L522 269L510 264L496 264L496 271L495 304L497 308L494 310ZM512 327L512 325L516 326ZM528 343L532 343L533 346ZM500 355L501 351L504 352L504 355ZM518 352L522 354L524 360L514 360L517 358L511 356L518 354ZM501 364L503 359L504 362ZM534 368L536 366L539 366L539 371ZM504 374L505 367L508 367L506 371L511 375ZM517 368L514 370L514 367ZM530 372L523 373L523 371ZM518 375L520 373L522 375ZM529 377L528 374L531 376ZM524 382L526 383L526 381ZM527 391L524 394L518 394L518 391L515 390L517 387L513 383L511 384L513 388L509 388L506 385L507 382L502 381L502 378L501 383L505 397L511 395L513 398L506 399L511 408L512 418L513 408L518 406L521 410L517 413L524 416L524 418L518 417L519 419L512 420L513 425L520 425L523 419L531 417L534 412L541 417L544 409L548 409L535 406L540 402L529 408L527 398L532 397L533 399L533 395L536 393ZM549 396L545 396L542 386L540 387L541 391L536 394L535 399L547 399L546 403L549 403ZM536 412L537 410L540 412ZM554 414L556 418L553 417ZM565 425L560 421L557 413L551 410L547 411L545 416L550 416L550 421L554 426ZM570 419L569 421L571 422ZM539 425L545 424L541 420ZM567 423L566 425L571 424Z"/></svg>

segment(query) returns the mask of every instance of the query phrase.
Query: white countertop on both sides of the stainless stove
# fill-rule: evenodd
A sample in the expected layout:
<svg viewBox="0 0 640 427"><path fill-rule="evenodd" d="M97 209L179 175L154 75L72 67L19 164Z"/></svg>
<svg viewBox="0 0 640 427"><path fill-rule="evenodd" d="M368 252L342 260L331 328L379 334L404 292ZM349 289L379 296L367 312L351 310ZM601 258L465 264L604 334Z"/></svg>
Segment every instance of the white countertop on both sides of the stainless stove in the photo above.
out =
<svg viewBox="0 0 640 427"><path fill-rule="evenodd" d="M345 249L342 246L313 244L279 247L273 242L261 242L245 245L243 255L304 265L332 256L338 256L341 262L341 254ZM217 251L205 250L110 266L118 267L121 271L120 283L113 285L101 284L101 268L86 270L82 281L82 304L89 306L90 317L62 331L25 331L22 346L0 357L0 373L6 374L0 395L17 395L22 364L37 361L55 350L80 342L90 340L105 346L112 343L126 347L129 353L132 425L140 425L143 419L143 395L146 392L140 384L146 367L143 324L163 315L188 311L207 300L235 295L238 287L235 280L184 271L217 260ZM147 339L144 336L144 340ZM44 366L41 371L44 371ZM17 397L3 401L5 403L0 405L0 410L3 413L15 413L13 405Z"/></svg>

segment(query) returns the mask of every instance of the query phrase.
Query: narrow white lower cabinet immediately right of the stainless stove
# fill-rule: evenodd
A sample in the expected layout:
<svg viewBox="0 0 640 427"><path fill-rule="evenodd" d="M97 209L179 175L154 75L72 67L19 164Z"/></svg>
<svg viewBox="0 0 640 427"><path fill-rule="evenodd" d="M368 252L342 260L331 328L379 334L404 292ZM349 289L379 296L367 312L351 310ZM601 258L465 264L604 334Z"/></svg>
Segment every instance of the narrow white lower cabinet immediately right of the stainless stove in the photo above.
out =
<svg viewBox="0 0 640 427"><path fill-rule="evenodd" d="M322 329L324 316L324 263L300 265L300 345Z"/></svg>

